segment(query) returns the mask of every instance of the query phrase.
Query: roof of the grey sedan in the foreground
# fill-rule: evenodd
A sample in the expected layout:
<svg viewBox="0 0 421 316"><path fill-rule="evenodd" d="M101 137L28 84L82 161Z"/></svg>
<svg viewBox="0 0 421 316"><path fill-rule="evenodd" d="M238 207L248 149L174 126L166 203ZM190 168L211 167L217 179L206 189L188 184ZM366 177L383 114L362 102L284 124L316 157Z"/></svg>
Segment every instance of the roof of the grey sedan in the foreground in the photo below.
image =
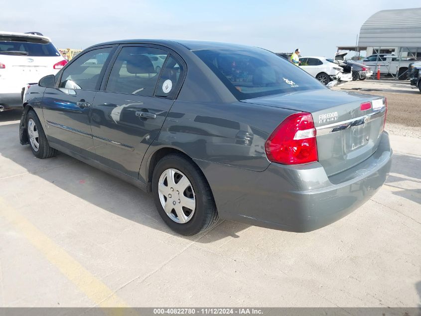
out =
<svg viewBox="0 0 421 316"><path fill-rule="evenodd" d="M161 44L172 46L174 44L180 44L186 47L189 50L202 50L202 49L232 49L232 48L251 48L252 46L233 44L233 43L224 43L224 42L215 42L215 41L206 41L206 40L176 40L176 39L123 39L109 41L105 43L96 44L93 46L100 45L111 45L111 44ZM92 46L92 47L93 47Z"/></svg>

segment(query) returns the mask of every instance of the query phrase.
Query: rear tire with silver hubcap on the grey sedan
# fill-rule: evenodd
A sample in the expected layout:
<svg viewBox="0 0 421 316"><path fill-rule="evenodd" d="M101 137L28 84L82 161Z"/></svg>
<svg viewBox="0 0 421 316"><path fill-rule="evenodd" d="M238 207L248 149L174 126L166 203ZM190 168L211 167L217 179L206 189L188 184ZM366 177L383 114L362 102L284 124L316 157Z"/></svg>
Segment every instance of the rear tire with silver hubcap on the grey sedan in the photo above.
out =
<svg viewBox="0 0 421 316"><path fill-rule="evenodd" d="M186 189L179 192L185 186ZM152 194L159 215L178 234L195 235L211 229L218 221L215 201L205 176L182 154L169 154L158 161L152 175ZM189 204L185 202L187 200ZM182 213L179 215L179 212Z"/></svg>

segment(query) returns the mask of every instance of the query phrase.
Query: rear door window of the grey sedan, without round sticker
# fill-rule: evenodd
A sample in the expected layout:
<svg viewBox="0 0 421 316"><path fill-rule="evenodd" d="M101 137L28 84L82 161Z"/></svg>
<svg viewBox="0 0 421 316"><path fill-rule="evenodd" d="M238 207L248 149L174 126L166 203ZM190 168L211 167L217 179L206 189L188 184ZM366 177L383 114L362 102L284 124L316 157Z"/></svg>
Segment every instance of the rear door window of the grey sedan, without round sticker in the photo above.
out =
<svg viewBox="0 0 421 316"><path fill-rule="evenodd" d="M123 47L111 69L106 91L151 96L166 51L152 47ZM160 58L159 56L164 56Z"/></svg>

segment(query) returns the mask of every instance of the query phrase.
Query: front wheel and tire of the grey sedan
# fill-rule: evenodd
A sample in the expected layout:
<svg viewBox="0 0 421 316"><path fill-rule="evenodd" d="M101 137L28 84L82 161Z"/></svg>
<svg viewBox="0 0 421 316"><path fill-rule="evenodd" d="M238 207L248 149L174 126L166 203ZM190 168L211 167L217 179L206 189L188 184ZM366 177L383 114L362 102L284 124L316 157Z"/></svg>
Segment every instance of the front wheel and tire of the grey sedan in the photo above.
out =
<svg viewBox="0 0 421 316"><path fill-rule="evenodd" d="M34 110L29 110L26 114L26 133L29 147L35 157L44 159L57 155L57 149L51 148L48 144L44 129Z"/></svg>

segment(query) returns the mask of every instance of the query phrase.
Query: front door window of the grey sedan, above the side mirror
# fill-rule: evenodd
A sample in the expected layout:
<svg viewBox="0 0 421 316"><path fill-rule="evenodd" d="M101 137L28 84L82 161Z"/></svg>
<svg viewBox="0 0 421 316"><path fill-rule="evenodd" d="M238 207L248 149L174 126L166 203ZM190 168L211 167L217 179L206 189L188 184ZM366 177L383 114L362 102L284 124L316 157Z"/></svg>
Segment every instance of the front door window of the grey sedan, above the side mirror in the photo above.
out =
<svg viewBox="0 0 421 316"><path fill-rule="evenodd" d="M101 72L110 56L112 47L88 51L78 57L63 71L59 88L98 90Z"/></svg>

